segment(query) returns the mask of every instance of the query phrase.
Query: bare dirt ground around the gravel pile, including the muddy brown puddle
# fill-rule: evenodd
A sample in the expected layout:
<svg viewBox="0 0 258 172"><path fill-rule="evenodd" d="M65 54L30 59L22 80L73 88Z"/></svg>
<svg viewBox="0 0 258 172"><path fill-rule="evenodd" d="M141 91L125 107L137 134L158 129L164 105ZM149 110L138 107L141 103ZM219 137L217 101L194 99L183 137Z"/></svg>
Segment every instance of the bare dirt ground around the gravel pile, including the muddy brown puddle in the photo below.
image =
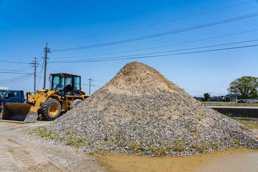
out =
<svg viewBox="0 0 258 172"><path fill-rule="evenodd" d="M75 147L45 143L41 141L41 137L27 134L27 129L48 122L50 121L19 124L0 121L1 172L257 171L258 167L258 150L247 148L231 148L187 157L129 156L114 153L89 155L80 149L76 151ZM108 168L113 164L114 166Z"/></svg>

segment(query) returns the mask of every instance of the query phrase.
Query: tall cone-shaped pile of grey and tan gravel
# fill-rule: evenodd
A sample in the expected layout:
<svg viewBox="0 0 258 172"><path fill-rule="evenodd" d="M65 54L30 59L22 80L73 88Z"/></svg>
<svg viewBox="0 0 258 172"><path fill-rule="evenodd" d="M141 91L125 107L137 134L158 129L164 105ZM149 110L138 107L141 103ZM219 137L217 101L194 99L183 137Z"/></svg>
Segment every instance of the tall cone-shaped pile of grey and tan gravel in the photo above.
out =
<svg viewBox="0 0 258 172"><path fill-rule="evenodd" d="M43 127L52 141L96 151L182 156L257 149L257 132L220 114L148 65L126 64L106 85Z"/></svg>

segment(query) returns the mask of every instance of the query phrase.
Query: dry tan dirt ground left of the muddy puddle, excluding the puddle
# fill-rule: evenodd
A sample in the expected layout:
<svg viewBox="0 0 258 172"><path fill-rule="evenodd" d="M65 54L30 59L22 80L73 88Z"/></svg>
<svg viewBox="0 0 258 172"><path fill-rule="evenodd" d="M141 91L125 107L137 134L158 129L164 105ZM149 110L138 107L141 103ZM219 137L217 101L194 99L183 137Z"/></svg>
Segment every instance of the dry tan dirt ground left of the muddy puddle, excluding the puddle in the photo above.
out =
<svg viewBox="0 0 258 172"><path fill-rule="evenodd" d="M67 145L45 143L26 132L48 122L0 121L0 171L106 171L93 161L95 155Z"/></svg>

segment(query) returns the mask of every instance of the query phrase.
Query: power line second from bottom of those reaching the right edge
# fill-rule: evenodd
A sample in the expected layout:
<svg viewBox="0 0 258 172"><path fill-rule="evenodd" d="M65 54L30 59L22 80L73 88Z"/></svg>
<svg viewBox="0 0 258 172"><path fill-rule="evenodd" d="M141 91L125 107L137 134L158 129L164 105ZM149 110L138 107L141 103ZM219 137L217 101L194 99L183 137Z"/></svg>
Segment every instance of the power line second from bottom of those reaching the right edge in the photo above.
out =
<svg viewBox="0 0 258 172"><path fill-rule="evenodd" d="M206 47L188 48L188 49L173 50L173 51L163 51L163 52L147 53L147 54L157 54L157 53L167 53L167 52L174 52L174 51L193 50L193 49L198 49L198 48L207 48L207 47L215 47L215 46L222 46L222 45L239 44L239 43L252 42L252 41L257 41L257 40L258 39L256 39L256 40L249 40L249 41L243 41L243 42L236 42L236 43L229 43L229 44L212 45L212 46L206 46ZM129 56L138 56L138 55L147 55L147 54L126 55L126 56L117 56L117 57L108 57L108 58L97 58L97 59L111 59L111 58L129 57ZM97 60L97 59L83 59L83 60ZM82 61L82 60L67 60L67 61L62 61L62 62L68 62L68 61ZM59 62L59 61L51 61L51 62Z"/></svg>

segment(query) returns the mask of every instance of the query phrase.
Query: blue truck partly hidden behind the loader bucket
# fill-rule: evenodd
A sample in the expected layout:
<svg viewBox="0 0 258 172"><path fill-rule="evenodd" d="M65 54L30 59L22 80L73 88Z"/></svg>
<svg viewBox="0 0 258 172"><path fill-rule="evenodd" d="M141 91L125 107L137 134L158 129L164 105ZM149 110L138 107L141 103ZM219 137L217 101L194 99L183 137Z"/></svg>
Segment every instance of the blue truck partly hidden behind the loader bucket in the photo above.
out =
<svg viewBox="0 0 258 172"><path fill-rule="evenodd" d="M23 91L18 90L0 90L0 112L5 103L24 103L25 97Z"/></svg>

